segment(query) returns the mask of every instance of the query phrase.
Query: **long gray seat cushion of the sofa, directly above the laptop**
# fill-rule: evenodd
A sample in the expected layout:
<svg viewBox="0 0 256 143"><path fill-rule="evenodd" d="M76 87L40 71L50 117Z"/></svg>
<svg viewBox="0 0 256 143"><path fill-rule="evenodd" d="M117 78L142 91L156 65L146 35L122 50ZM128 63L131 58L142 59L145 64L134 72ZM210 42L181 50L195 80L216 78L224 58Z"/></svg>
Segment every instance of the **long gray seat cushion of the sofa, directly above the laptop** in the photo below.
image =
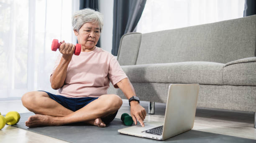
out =
<svg viewBox="0 0 256 143"><path fill-rule="evenodd" d="M223 85L223 67L216 62L177 62L121 66L131 82Z"/></svg>

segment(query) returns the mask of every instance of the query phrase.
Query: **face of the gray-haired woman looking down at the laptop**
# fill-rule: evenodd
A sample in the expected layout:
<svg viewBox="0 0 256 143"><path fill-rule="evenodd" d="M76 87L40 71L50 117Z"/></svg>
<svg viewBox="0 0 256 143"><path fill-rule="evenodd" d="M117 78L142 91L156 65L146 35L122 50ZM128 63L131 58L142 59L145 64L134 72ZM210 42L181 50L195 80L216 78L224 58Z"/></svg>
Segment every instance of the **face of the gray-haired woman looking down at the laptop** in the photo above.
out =
<svg viewBox="0 0 256 143"><path fill-rule="evenodd" d="M95 45L100 38L100 27L98 23L87 22L82 25L79 29L74 30L75 35L77 36L78 43L81 44L82 52L90 52L94 50Z"/></svg>

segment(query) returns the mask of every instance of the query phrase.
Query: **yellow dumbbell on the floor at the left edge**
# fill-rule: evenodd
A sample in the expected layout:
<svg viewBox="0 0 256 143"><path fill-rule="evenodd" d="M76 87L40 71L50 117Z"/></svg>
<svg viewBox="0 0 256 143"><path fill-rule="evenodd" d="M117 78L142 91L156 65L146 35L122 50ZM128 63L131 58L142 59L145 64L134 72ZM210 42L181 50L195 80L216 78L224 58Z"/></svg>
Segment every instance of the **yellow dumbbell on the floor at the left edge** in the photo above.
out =
<svg viewBox="0 0 256 143"><path fill-rule="evenodd" d="M20 121L20 114L16 111L8 112L5 117L0 114L0 130L5 127L5 124L15 125Z"/></svg>

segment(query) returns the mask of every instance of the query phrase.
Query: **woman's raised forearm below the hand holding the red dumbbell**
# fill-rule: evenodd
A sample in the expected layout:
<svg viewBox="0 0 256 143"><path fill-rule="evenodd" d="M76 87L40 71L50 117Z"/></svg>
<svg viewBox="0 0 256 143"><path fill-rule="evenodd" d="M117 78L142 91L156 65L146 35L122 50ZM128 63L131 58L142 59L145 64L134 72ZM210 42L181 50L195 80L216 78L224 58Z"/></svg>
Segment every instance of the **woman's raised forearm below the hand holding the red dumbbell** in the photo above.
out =
<svg viewBox="0 0 256 143"><path fill-rule="evenodd" d="M59 89L64 85L65 79L67 77L67 67L71 59L64 59L61 57L58 67L55 69L54 73L51 75L51 88Z"/></svg>

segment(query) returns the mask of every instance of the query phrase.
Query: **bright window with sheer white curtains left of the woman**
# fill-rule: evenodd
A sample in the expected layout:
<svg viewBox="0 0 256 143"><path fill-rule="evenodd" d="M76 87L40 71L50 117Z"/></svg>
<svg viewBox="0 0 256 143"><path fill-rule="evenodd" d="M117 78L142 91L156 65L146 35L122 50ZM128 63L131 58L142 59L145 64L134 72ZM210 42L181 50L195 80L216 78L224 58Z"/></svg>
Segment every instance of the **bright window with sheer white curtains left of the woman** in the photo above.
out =
<svg viewBox="0 0 256 143"><path fill-rule="evenodd" d="M49 77L59 52L51 42L76 42L71 18L78 7L78 0L1 0L0 98L53 90Z"/></svg>

